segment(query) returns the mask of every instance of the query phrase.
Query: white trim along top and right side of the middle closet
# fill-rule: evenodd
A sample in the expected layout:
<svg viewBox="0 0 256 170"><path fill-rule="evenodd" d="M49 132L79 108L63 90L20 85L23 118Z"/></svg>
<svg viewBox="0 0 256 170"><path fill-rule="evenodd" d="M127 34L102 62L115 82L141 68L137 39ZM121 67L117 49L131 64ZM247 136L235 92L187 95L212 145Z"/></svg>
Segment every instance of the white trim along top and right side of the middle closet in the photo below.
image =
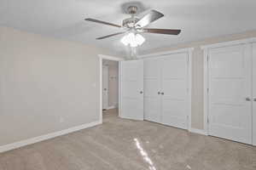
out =
<svg viewBox="0 0 256 170"><path fill-rule="evenodd" d="M168 54L188 54L189 60L188 60L188 101L189 101L189 108L188 108L188 131L189 132L195 132L197 129L194 129L191 127L191 116L192 116L192 105L191 105L191 91L192 91L192 53L194 48L181 48L177 50L171 50L171 51L165 51L160 53L154 53L154 54L144 54L137 56L138 59L147 59L147 58L158 58L158 57L164 57Z"/></svg>

